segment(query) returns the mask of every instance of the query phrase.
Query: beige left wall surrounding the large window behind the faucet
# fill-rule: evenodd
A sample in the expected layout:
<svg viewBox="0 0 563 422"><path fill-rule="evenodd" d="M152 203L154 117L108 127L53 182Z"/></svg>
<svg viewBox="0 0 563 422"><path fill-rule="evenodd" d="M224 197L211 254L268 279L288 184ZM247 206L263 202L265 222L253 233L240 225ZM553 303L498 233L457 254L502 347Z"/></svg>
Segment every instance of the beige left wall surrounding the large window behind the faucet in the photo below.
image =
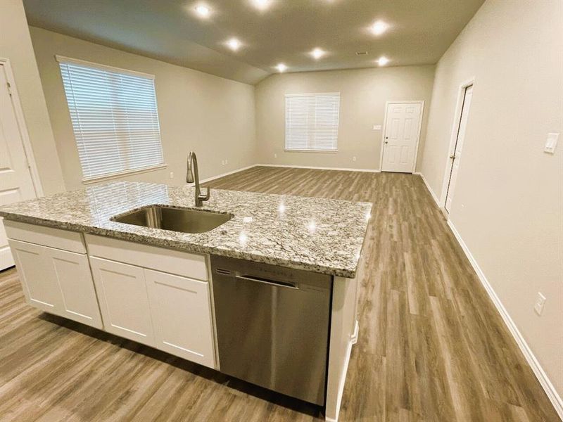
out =
<svg viewBox="0 0 563 422"><path fill-rule="evenodd" d="M82 188L82 170L55 55L155 75L164 170L121 179L183 184L186 155L196 151L200 177L254 164L254 87L36 27L30 32L65 186ZM222 160L228 160L222 165ZM174 179L169 179L170 172Z"/></svg>

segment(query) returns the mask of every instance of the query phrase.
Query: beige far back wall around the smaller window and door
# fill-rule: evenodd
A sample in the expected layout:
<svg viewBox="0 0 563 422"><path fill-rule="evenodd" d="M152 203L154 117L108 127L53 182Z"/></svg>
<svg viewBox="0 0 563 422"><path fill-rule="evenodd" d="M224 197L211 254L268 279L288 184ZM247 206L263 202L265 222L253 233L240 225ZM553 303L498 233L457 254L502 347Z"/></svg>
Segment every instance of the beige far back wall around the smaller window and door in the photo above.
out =
<svg viewBox="0 0 563 422"><path fill-rule="evenodd" d="M261 163L379 170L385 103L430 105L434 65L272 75L256 86L256 139ZM285 95L340 91L339 151L285 152ZM426 132L425 111L420 146ZM274 158L277 154L277 158ZM353 161L353 157L356 160Z"/></svg>

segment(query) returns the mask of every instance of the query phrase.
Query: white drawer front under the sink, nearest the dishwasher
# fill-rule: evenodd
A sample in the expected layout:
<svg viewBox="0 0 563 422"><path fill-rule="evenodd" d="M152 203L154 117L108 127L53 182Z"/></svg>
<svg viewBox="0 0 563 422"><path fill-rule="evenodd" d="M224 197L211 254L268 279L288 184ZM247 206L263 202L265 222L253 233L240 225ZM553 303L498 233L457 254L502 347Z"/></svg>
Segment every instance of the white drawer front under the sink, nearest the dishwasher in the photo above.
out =
<svg viewBox="0 0 563 422"><path fill-rule="evenodd" d="M207 255L182 252L104 236L85 235L91 257L125 262L148 269L207 281Z"/></svg>

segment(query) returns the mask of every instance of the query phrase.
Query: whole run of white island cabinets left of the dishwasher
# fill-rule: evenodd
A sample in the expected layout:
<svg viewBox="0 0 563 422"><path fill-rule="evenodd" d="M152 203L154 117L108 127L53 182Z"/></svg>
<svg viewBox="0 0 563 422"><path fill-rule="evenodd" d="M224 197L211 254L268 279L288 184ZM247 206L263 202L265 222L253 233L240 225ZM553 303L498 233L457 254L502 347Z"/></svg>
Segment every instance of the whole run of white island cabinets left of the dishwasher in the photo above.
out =
<svg viewBox="0 0 563 422"><path fill-rule="evenodd" d="M205 255L21 222L6 232L30 305L216 367Z"/></svg>

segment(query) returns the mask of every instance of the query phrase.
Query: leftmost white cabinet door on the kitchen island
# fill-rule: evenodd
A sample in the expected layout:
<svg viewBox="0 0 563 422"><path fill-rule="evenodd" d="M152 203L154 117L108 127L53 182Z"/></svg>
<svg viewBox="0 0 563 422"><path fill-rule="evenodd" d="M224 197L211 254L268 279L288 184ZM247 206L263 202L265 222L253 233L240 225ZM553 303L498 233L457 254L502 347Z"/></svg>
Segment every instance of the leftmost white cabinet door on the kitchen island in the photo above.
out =
<svg viewBox="0 0 563 422"><path fill-rule="evenodd" d="M11 239L8 243L27 303L45 312L58 314L62 302L61 290L56 274L49 265L45 247Z"/></svg>

